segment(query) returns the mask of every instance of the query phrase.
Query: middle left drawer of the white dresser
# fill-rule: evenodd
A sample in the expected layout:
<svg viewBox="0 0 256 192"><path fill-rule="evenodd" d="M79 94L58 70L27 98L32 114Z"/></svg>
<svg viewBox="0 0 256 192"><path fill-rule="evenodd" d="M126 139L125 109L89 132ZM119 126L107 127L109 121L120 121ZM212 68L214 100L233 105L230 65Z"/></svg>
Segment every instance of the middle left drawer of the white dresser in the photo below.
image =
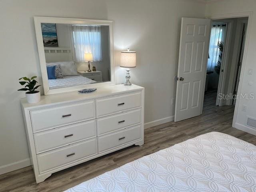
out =
<svg viewBox="0 0 256 192"><path fill-rule="evenodd" d="M36 133L34 141L36 152L41 153L96 136L96 120L90 120Z"/></svg>

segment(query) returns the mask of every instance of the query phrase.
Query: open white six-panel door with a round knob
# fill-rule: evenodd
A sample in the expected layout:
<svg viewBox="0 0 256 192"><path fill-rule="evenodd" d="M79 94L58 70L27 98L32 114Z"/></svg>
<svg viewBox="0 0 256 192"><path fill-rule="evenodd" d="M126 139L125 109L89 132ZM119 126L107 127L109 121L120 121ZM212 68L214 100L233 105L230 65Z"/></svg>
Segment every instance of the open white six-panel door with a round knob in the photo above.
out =
<svg viewBox="0 0 256 192"><path fill-rule="evenodd" d="M202 114L210 19L182 18L174 121Z"/></svg>

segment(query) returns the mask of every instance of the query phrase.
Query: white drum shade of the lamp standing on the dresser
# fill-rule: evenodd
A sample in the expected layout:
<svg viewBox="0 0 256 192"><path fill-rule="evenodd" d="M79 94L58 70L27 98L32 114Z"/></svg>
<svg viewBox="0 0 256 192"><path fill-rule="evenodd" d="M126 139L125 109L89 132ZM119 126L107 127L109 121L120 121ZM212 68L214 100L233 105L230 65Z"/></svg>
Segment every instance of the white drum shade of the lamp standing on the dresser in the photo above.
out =
<svg viewBox="0 0 256 192"><path fill-rule="evenodd" d="M136 67L136 52L135 51L121 51L120 67Z"/></svg>

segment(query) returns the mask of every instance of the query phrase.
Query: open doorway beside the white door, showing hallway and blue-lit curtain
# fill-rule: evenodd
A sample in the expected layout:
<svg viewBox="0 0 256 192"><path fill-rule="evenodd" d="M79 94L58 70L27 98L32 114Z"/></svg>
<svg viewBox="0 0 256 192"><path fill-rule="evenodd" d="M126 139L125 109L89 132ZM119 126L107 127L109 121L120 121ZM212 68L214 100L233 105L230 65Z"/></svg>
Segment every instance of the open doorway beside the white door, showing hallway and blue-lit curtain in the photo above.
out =
<svg viewBox="0 0 256 192"><path fill-rule="evenodd" d="M212 20L205 100L216 106L235 105L248 18Z"/></svg>

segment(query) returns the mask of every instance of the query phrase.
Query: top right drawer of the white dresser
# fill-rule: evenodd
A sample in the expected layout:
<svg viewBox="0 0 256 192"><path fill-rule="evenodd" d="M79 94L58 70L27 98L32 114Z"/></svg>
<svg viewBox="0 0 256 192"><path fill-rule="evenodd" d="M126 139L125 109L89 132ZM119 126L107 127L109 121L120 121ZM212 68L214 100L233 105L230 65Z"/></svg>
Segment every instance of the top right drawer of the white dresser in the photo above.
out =
<svg viewBox="0 0 256 192"><path fill-rule="evenodd" d="M141 107L141 92L96 100L97 117Z"/></svg>

